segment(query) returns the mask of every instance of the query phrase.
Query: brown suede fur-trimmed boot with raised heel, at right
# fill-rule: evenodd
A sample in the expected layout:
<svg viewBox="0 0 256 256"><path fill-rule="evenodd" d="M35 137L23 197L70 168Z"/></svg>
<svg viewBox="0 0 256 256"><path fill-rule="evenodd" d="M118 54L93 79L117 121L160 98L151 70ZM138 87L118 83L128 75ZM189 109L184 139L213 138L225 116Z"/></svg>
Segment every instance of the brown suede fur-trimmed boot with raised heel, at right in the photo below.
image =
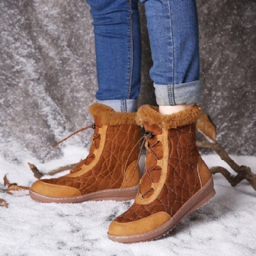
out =
<svg viewBox="0 0 256 256"><path fill-rule="evenodd" d="M162 115L144 105L137 115L146 130L146 166L134 204L110 224L108 237L117 242L160 238L215 195L196 147L201 108Z"/></svg>

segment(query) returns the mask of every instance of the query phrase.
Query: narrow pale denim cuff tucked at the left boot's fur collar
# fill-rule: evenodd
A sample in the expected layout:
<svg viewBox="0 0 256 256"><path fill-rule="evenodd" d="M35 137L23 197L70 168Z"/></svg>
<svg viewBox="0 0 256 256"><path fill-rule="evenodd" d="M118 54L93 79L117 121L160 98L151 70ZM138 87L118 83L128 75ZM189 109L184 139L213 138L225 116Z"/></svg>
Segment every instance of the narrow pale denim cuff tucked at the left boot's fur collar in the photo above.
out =
<svg viewBox="0 0 256 256"><path fill-rule="evenodd" d="M112 107L115 112L137 112L137 100L97 100L97 102Z"/></svg>

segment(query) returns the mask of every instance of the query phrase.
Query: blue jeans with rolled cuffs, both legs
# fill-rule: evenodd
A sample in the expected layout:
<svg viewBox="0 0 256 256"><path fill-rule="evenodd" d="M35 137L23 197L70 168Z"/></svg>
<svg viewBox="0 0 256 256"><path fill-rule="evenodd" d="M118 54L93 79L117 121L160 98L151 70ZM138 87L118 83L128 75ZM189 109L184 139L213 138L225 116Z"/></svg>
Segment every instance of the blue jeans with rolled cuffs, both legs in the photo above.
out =
<svg viewBox="0 0 256 256"><path fill-rule="evenodd" d="M158 105L199 103L196 0L140 0L145 4ZM96 98L114 110L137 110L141 38L138 0L87 0L93 18Z"/></svg>

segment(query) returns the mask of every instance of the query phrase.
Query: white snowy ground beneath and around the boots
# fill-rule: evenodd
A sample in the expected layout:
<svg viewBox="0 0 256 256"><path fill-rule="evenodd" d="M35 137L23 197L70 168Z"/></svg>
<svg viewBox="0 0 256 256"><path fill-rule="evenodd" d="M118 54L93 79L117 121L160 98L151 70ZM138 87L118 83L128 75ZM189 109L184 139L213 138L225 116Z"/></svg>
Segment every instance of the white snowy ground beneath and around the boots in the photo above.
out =
<svg viewBox="0 0 256 256"><path fill-rule="evenodd" d="M11 182L31 186L36 178L28 169L28 161L47 172L79 161L86 154L85 149L67 146L62 159L40 164L27 155L19 165L0 156L0 188L5 174ZM255 171L256 157L233 158ZM203 159L208 166L226 166L217 155ZM107 238L110 221L132 201L42 204L23 196L23 192L14 196L0 193L0 198L9 203L9 208L0 208L0 255L256 255L256 191L246 181L232 188L220 174L214 181L213 200L191 213L167 237L133 245Z"/></svg>

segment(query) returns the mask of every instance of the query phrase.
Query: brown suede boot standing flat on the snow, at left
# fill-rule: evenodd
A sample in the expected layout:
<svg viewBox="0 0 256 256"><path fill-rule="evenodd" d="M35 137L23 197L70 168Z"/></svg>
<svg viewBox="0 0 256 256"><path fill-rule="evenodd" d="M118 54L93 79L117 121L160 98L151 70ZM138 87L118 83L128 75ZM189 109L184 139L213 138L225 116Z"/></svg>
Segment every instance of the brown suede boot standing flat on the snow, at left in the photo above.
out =
<svg viewBox="0 0 256 256"><path fill-rule="evenodd" d="M136 113L114 112L99 103L89 112L95 118L89 155L70 174L33 183L29 192L33 200L79 203L135 198L141 178L136 146L141 127L135 122Z"/></svg>

